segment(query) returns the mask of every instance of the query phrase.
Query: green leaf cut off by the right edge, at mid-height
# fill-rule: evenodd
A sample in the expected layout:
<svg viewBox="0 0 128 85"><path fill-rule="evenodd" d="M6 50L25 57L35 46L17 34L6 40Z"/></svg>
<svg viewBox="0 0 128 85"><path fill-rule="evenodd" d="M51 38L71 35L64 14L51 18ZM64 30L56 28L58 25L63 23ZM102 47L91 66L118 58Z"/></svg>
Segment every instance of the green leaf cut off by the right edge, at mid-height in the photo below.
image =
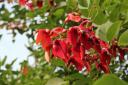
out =
<svg viewBox="0 0 128 85"><path fill-rule="evenodd" d="M128 30L126 30L120 37L118 41L119 45L126 46L128 45Z"/></svg>

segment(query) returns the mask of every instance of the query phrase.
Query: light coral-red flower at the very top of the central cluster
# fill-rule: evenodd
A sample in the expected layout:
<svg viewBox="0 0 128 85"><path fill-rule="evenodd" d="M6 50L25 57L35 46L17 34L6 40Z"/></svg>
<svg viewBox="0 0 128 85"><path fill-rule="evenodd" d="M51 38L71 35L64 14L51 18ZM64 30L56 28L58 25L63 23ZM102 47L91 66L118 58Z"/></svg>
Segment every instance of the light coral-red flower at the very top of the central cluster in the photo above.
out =
<svg viewBox="0 0 128 85"><path fill-rule="evenodd" d="M69 13L64 22L65 23L67 23L69 21L80 22L81 19L82 18L79 15L76 15L75 13Z"/></svg>

